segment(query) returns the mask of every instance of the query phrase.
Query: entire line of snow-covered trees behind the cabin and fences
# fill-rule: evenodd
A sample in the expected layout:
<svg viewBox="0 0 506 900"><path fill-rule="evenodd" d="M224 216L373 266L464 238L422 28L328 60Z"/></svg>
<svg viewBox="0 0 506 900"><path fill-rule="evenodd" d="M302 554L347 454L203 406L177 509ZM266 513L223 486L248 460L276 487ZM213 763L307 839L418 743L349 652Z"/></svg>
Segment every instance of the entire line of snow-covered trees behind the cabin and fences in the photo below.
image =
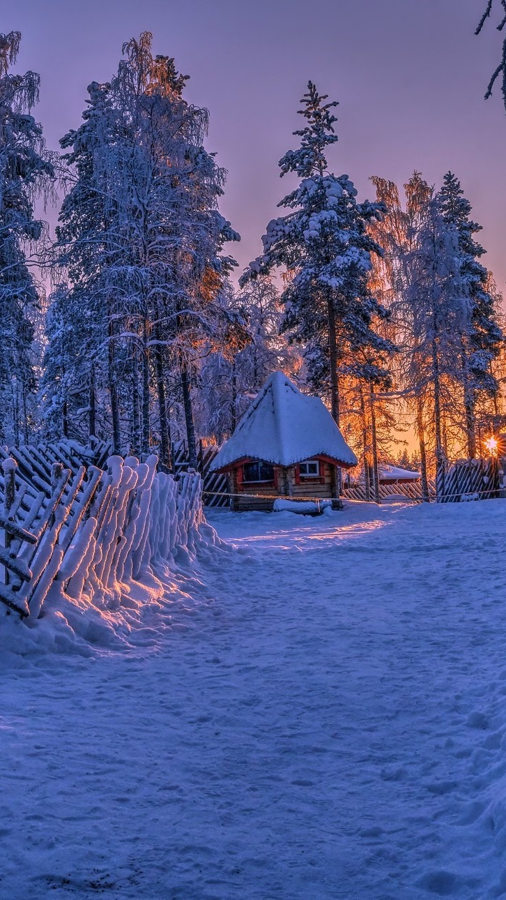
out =
<svg viewBox="0 0 506 900"><path fill-rule="evenodd" d="M0 37L0 443L96 435L170 469L184 437L195 464L196 438L219 443L280 368L328 402L373 491L407 428L424 479L480 453L502 414L504 338L455 175L436 188L414 173L402 199L375 177L375 202L358 202L326 158L337 104L310 82L280 160L297 187L235 291L226 173L173 58L148 33L125 44L57 155L31 114L38 76L11 71L19 41ZM33 203L56 187L51 242Z"/></svg>

